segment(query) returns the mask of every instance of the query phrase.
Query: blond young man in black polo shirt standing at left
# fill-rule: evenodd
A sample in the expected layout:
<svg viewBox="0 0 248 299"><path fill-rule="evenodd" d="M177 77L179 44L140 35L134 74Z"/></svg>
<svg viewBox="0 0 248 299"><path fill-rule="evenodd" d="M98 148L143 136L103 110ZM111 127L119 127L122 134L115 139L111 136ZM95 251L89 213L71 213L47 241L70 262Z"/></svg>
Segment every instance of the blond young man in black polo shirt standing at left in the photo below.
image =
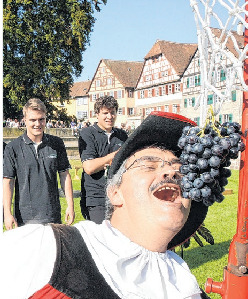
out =
<svg viewBox="0 0 248 299"><path fill-rule="evenodd" d="M66 221L74 221L71 168L63 140L44 133L46 107L30 99L23 108L27 131L4 152L3 207L6 229L28 223L61 223L57 173L67 200ZM15 188L14 215L11 212Z"/></svg>

